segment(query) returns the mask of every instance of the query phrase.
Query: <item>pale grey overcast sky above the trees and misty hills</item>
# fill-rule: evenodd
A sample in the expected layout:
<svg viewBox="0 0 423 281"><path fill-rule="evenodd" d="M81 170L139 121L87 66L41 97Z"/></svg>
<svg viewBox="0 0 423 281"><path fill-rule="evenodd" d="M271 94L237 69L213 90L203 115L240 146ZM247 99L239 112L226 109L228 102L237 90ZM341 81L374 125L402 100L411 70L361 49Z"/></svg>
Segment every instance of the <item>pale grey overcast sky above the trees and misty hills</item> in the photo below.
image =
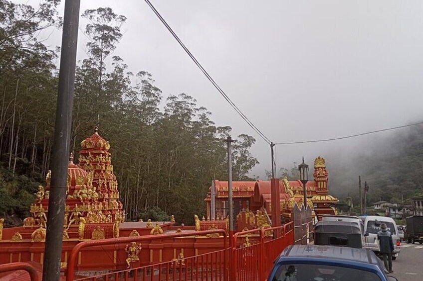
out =
<svg viewBox="0 0 423 281"><path fill-rule="evenodd" d="M274 142L351 135L423 119L423 1L151 0L232 101ZM128 20L115 55L129 70L146 70L166 97L187 93L212 112L233 137L253 135L270 170L269 146L212 87L142 0L82 0L109 6ZM61 5L63 13L63 4ZM81 20L80 27L85 22ZM61 31L49 39L60 45ZM78 58L85 57L80 34ZM104 128L107 130L107 128ZM304 155L366 151L352 140L277 147L277 165ZM336 157L331 159L336 161ZM331 163L332 165L334 163Z"/></svg>

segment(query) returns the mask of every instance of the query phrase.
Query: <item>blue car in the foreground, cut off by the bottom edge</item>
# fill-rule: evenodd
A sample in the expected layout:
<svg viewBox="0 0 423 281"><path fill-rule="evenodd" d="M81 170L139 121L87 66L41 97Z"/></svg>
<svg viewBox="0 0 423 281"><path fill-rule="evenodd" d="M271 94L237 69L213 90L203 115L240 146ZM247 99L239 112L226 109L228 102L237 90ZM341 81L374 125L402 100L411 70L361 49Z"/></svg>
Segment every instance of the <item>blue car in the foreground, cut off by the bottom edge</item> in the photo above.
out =
<svg viewBox="0 0 423 281"><path fill-rule="evenodd" d="M398 281L370 250L291 245L275 261L268 281Z"/></svg>

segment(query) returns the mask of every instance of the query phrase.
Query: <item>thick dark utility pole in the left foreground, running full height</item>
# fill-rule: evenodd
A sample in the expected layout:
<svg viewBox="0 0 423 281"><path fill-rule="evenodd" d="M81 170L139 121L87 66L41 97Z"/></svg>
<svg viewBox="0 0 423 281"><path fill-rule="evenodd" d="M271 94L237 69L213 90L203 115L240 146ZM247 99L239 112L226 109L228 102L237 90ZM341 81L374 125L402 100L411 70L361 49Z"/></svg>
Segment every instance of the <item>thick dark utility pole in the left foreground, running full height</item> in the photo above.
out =
<svg viewBox="0 0 423 281"><path fill-rule="evenodd" d="M59 281L80 0L66 0L54 125L50 197L42 271L43 281Z"/></svg>

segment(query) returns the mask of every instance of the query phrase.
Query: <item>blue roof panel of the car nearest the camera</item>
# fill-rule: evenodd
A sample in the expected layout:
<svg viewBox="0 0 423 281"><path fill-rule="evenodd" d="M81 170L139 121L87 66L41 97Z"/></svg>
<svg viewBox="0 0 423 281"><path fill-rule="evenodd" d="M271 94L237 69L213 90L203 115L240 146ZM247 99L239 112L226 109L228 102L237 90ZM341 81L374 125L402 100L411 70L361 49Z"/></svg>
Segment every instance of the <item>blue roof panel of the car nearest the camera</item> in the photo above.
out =
<svg viewBox="0 0 423 281"><path fill-rule="evenodd" d="M343 260L380 266L378 257L370 250L326 245L290 245L280 254L278 262L285 258L318 258L337 262Z"/></svg>

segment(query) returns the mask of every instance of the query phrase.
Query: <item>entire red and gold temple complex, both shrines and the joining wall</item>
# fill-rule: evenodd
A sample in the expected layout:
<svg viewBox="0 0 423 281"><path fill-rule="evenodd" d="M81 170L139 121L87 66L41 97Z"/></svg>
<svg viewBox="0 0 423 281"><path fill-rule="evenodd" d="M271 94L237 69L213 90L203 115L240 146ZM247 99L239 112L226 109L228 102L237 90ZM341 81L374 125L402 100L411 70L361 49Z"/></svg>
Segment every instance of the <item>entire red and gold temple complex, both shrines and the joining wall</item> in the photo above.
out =
<svg viewBox="0 0 423 281"><path fill-rule="evenodd" d="M75 245L82 241L105 238L134 237L185 233L184 237L154 241L135 242L126 247L94 247L79 253L76 270L92 272L99 270L123 270L162 262L183 262L186 257L212 253L224 245L223 237L217 234L196 235L202 230L228 229L227 182L215 180L205 198L206 216L195 217L195 225L176 225L172 216L168 222L125 222L125 212L119 199L119 188L113 173L110 144L97 132L81 142L78 163L70 156L67 176L65 220L63 224L62 268L66 268L68 256ZM313 217L320 219L324 214L336 214L334 204L338 201L328 194L328 172L325 160L314 161L314 181L306 185L307 202ZM292 219L293 210L304 206L303 186L299 181L278 182L280 215L284 223ZM214 190L212 190L214 188ZM50 172L45 186L39 186L34 202L30 206L31 216L23 226L3 228L0 219L0 264L32 262L42 265ZM213 192L212 192L213 191ZM215 194L215 212L212 212L212 193ZM271 227L271 185L270 182L233 182L235 229L240 231ZM265 232L271 239L273 232ZM240 236L239 246L250 245L257 235Z"/></svg>

